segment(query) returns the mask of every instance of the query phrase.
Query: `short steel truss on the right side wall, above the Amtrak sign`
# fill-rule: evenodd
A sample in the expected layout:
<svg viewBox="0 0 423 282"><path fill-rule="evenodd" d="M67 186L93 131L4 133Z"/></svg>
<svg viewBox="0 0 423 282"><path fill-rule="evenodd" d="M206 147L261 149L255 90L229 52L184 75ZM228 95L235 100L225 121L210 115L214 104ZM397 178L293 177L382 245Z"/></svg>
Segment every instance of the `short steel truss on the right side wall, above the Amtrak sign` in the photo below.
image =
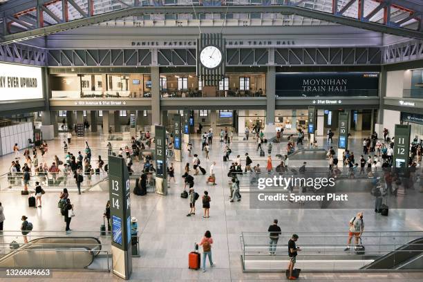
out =
<svg viewBox="0 0 423 282"><path fill-rule="evenodd" d="M384 64L423 59L423 41L409 40L383 48Z"/></svg>

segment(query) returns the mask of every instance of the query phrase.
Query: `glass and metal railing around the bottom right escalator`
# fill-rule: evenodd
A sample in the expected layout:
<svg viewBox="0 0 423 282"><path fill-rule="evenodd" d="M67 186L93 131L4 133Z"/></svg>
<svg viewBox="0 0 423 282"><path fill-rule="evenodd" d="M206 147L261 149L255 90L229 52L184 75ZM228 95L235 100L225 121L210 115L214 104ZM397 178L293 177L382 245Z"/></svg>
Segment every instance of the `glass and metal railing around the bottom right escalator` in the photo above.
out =
<svg viewBox="0 0 423 282"><path fill-rule="evenodd" d="M363 232L362 244L366 247L364 252L355 252L355 239L353 245L346 252L344 248L348 240L348 232L292 232L282 233L274 248L270 247L270 232L241 232L241 261L244 272L280 272L285 271L288 265L288 241L292 234L299 235L296 242L301 247L298 252L296 267L310 271L344 271L360 270L376 259L393 251L411 253L417 256L423 253L423 232ZM422 239L422 242L417 239ZM400 247L408 246L411 241L413 250L401 250ZM273 253L270 254L270 253ZM395 266L394 261L388 263L387 270Z"/></svg>

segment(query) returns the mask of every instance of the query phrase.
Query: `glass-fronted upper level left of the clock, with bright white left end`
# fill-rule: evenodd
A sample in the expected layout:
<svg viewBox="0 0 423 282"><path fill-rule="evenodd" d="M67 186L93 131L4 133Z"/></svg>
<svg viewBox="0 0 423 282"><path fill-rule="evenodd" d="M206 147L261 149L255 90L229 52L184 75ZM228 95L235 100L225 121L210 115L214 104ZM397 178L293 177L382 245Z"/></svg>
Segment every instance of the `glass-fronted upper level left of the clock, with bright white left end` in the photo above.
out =
<svg viewBox="0 0 423 282"><path fill-rule="evenodd" d="M149 74L50 75L50 86L53 98L151 97Z"/></svg>

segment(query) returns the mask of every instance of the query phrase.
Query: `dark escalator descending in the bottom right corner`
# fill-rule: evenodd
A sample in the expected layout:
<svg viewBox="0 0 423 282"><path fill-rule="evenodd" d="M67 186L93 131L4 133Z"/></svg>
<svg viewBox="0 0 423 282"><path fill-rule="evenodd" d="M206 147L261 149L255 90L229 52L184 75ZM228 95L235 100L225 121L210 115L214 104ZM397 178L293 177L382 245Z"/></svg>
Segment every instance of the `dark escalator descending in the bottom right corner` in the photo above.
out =
<svg viewBox="0 0 423 282"><path fill-rule="evenodd" d="M422 270L423 237L402 245L381 256L372 263L361 267L362 270Z"/></svg>

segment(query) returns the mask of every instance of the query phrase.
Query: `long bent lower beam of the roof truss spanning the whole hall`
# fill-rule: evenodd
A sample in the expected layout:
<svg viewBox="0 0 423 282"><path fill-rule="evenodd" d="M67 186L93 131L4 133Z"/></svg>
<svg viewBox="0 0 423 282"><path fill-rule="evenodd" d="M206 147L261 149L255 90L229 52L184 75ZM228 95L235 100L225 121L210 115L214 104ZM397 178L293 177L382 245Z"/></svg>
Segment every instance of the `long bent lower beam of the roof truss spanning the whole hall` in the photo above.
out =
<svg viewBox="0 0 423 282"><path fill-rule="evenodd" d="M68 0L69 3L73 0ZM322 21L330 21L333 23L340 23L344 26L353 26L355 28L362 28L365 30L373 30L375 32L382 32L391 35L398 35L402 37L411 37L416 39L423 39L423 32L417 30L410 30L406 28L398 28L394 26L386 26L382 23L375 22L364 22L359 19L353 19L350 17L341 17L332 15L328 12L321 12L317 10L310 10L307 8L301 8L297 6L199 6L196 8L198 13L250 13L250 12L262 12L262 13L274 13L278 12L284 15L299 15L301 17L308 17L312 19L320 19ZM7 44L15 41L22 41L30 38L50 35L55 32L62 32L64 30L70 30L73 28L80 28L82 26L90 26L96 23L102 23L105 21L112 21L123 17L131 17L133 15L140 14L186 14L186 6L149 6L149 7L134 7L126 8L122 10L116 10L114 12L108 12L102 15L95 15L93 17L75 19L67 23L57 23L53 26L47 26L45 28L37 28L35 30L28 30L26 32L19 32L12 35L6 35L5 41L1 44Z"/></svg>

